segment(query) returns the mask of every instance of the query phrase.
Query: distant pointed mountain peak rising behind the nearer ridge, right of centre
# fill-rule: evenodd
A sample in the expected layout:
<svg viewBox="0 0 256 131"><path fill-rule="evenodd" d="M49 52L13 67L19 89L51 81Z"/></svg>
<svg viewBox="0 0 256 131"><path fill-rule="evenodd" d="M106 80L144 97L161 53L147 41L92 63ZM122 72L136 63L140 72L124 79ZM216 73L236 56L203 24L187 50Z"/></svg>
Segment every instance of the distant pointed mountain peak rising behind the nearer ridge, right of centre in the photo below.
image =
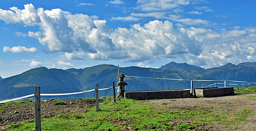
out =
<svg viewBox="0 0 256 131"><path fill-rule="evenodd" d="M169 62L168 64L161 66L159 69L174 69L174 70L195 70L198 72L202 72L204 69L199 66L194 66L184 63L176 63L176 62Z"/></svg>

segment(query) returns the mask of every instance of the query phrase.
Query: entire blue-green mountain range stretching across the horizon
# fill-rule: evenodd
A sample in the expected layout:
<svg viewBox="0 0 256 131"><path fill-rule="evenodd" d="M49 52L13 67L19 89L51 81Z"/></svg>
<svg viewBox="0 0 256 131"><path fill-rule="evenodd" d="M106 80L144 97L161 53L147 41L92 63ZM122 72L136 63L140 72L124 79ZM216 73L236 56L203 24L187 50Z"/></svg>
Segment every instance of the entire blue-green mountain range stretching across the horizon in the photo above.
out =
<svg viewBox="0 0 256 131"><path fill-rule="evenodd" d="M172 78L184 80L235 80L256 82L255 62L244 62L238 65L228 63L221 67L203 69L187 63L170 62L159 69L126 67L120 68L120 73L126 75L128 83L125 90L166 90L189 89L190 81L163 80L153 78ZM41 93L73 93L95 88L112 86L117 83L117 70L114 65L101 64L85 69L47 69L45 67L30 69L20 75L8 77L0 81L0 99L10 99L28 94L34 94L34 86L40 86ZM140 76L148 78L138 78ZM217 81L219 82L219 81ZM213 81L194 81L193 86L204 87ZM222 81L223 83L223 81ZM230 82L229 82L230 83ZM231 83L230 83L231 84ZM218 85L223 86L223 85ZM233 85L232 85L233 86ZM62 97L94 97L94 92L61 96ZM102 90L100 96L113 96L113 89ZM45 98L47 96L44 96ZM49 96L53 97L53 96ZM54 96L59 97L59 96Z"/></svg>

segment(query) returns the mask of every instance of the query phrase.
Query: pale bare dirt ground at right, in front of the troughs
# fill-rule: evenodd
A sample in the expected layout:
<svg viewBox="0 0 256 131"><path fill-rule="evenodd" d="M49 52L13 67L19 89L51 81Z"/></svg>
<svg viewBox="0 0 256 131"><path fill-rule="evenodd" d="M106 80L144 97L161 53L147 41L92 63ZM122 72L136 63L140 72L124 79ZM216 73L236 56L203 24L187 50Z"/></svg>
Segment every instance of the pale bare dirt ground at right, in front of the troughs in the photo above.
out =
<svg viewBox="0 0 256 131"><path fill-rule="evenodd" d="M209 107L214 114L220 114L220 112L229 112L226 114L227 120L234 117L232 114L236 112L242 112L243 109L250 109L251 113L246 121L236 125L219 125L216 123L209 123L208 125L202 125L201 130L205 131L229 131L242 130L242 131L256 131L256 93L254 94L236 94L223 97L212 98L183 98L183 99L164 99L164 100L141 100L142 103L164 105L168 110L183 109L194 110L195 107ZM181 122L188 122L186 119Z"/></svg>

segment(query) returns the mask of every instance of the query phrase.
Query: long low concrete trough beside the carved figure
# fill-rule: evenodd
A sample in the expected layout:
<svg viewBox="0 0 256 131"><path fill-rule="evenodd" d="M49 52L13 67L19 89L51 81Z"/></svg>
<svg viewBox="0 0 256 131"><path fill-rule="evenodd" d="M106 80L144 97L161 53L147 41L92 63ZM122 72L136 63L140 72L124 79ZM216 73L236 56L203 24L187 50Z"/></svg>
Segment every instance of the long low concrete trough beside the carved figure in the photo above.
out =
<svg viewBox="0 0 256 131"><path fill-rule="evenodd" d="M132 98L138 100L145 99L161 99L161 98L188 98L190 97L190 90L161 90L161 91L126 91L125 98Z"/></svg>

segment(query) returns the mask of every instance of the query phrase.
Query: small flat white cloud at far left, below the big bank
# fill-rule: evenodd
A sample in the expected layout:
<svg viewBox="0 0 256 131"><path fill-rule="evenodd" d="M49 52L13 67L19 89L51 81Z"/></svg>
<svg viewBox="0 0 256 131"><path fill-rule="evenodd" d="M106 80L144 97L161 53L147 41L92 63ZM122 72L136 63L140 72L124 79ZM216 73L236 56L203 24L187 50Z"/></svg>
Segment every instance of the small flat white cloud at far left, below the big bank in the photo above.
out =
<svg viewBox="0 0 256 131"><path fill-rule="evenodd" d="M3 51L4 52L10 51L13 53L34 53L34 52L37 52L37 49L34 47L26 48L25 46L14 46L12 48L5 46L3 48Z"/></svg>

